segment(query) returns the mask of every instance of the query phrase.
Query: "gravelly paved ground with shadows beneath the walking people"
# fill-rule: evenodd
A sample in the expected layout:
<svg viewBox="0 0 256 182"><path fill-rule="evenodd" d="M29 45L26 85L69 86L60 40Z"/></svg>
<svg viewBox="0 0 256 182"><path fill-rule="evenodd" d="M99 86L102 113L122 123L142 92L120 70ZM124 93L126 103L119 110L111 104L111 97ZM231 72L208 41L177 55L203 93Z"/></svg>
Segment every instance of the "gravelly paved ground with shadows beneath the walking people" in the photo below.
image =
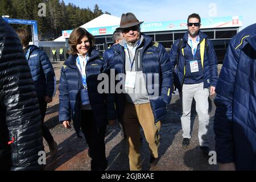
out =
<svg viewBox="0 0 256 182"><path fill-rule="evenodd" d="M59 85L60 69L63 63L53 63L55 69L57 84ZM221 65L219 65L219 70ZM45 123L50 129L53 138L58 144L58 154L51 158L47 153L46 170L90 170L90 158L88 156L88 146L84 139L76 137L75 130L65 129L58 122L59 92L57 90L53 102L48 105ZM210 150L214 150L213 117L215 106L213 98L209 97L209 138ZM172 96L171 105L168 106L167 114L162 121L160 129L160 160L156 167L150 169L148 146L144 135L142 138L142 168L152 171L170 171L170 170L217 170L217 165L209 165L208 157L203 155L199 148L198 117L195 111L195 102L192 105L192 138L191 144L187 147L182 146L182 130L180 123L181 108L179 94ZM129 160L127 157L127 143L122 138L122 130L118 123L109 126L106 131L106 156L109 161L107 170L129 170ZM44 140L46 152L48 146Z"/></svg>

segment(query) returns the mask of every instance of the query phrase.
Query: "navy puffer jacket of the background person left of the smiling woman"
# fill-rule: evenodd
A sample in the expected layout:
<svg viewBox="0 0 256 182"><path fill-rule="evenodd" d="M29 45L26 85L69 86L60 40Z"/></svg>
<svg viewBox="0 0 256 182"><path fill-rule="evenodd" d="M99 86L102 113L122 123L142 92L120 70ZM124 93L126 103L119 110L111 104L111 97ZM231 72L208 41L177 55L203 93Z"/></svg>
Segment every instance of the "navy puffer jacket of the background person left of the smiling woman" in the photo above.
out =
<svg viewBox="0 0 256 182"><path fill-rule="evenodd" d="M28 66L38 98L53 97L56 92L55 73L46 52L36 46L29 46L28 53Z"/></svg>

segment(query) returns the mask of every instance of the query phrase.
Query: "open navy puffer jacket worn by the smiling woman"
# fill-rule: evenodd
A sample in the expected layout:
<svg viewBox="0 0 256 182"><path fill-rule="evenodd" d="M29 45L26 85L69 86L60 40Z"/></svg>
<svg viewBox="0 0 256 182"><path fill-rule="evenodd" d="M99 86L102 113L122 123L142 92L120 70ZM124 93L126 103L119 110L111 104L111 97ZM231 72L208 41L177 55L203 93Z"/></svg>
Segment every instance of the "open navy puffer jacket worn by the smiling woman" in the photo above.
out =
<svg viewBox="0 0 256 182"><path fill-rule="evenodd" d="M76 66L77 55L70 55L63 64L59 85L59 121L71 121L77 134L80 131L81 123L81 75ZM101 82L97 80L98 75L103 70L103 60L100 53L92 49L89 53L89 60L86 64L86 82L90 106L92 107L96 119L96 127L107 125L107 119L116 119L114 97L98 93L97 87Z"/></svg>

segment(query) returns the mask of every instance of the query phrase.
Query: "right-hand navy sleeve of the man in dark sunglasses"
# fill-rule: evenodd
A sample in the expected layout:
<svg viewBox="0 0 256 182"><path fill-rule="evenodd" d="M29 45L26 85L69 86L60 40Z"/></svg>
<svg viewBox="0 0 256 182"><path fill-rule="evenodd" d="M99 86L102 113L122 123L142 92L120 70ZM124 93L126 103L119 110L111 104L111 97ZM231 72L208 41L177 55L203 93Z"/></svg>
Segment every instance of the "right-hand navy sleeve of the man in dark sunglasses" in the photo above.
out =
<svg viewBox="0 0 256 182"><path fill-rule="evenodd" d="M209 71L212 76L211 86L216 86L218 80L218 63L212 42L207 39Z"/></svg>

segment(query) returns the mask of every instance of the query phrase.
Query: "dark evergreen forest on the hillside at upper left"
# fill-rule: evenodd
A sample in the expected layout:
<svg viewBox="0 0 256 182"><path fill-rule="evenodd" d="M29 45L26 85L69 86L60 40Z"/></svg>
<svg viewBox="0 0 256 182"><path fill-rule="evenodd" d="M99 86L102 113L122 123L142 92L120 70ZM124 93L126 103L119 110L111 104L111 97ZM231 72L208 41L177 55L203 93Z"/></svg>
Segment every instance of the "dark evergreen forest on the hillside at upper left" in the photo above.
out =
<svg viewBox="0 0 256 182"><path fill-rule="evenodd" d="M46 4L46 16L39 16L39 3ZM107 11L105 12L107 14ZM52 40L61 35L62 30L71 30L89 22L103 14L96 4L93 11L87 8L68 3L63 0L0 0L0 15L9 15L10 18L36 20L38 23L39 40ZM12 24L14 29L31 27L21 24Z"/></svg>

